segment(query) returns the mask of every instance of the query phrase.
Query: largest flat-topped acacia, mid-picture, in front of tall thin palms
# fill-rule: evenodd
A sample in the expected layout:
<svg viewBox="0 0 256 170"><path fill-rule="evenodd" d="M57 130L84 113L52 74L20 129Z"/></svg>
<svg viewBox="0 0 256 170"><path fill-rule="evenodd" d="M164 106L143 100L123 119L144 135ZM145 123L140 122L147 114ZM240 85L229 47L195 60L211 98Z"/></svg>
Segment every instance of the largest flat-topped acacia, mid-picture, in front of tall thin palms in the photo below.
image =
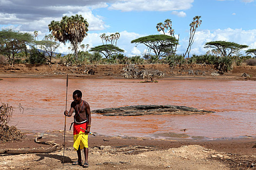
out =
<svg viewBox="0 0 256 170"><path fill-rule="evenodd" d="M144 44L154 51L158 59L165 54L166 49L178 44L177 39L169 35L148 35L132 40L131 43Z"/></svg>

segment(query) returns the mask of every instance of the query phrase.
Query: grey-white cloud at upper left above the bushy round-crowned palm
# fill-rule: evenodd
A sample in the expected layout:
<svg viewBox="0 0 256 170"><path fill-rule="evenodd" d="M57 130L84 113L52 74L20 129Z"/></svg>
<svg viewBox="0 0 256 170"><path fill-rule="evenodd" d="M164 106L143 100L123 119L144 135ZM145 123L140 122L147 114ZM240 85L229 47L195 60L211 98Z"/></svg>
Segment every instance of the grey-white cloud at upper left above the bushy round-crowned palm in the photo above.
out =
<svg viewBox="0 0 256 170"><path fill-rule="evenodd" d="M61 20L63 15L80 14L87 19L90 30L103 30L101 16L92 10L107 7L112 0L0 0L0 23L16 25L20 31L48 31L52 20Z"/></svg>

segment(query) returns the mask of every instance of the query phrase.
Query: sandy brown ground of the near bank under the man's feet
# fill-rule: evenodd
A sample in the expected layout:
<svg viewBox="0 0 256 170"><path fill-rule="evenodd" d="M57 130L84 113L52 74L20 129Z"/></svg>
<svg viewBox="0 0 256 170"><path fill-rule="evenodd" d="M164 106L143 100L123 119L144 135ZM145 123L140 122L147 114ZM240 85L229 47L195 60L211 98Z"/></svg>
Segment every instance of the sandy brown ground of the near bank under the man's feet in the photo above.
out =
<svg viewBox="0 0 256 170"><path fill-rule="evenodd" d="M39 134L27 134L19 142L0 143L0 149L47 148L34 142ZM41 141L63 143L63 131L46 132ZM66 133L65 170L79 170L72 133ZM256 139L192 141L139 137L89 136L90 170L255 170ZM51 147L51 146L49 146ZM82 154L83 157L83 154ZM63 149L53 153L1 154L2 170L60 170Z"/></svg>

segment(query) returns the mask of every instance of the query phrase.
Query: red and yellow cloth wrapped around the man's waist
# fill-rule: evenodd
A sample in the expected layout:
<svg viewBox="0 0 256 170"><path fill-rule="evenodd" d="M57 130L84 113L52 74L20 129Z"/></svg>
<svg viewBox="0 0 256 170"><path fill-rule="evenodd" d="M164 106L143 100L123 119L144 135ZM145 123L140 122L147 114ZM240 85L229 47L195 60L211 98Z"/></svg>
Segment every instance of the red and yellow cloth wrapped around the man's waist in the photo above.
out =
<svg viewBox="0 0 256 170"><path fill-rule="evenodd" d="M85 134L84 130L80 129L86 129L88 122L83 124L76 124L73 125L73 137L74 137L74 145L73 147L77 151L79 149L88 148L88 134Z"/></svg>

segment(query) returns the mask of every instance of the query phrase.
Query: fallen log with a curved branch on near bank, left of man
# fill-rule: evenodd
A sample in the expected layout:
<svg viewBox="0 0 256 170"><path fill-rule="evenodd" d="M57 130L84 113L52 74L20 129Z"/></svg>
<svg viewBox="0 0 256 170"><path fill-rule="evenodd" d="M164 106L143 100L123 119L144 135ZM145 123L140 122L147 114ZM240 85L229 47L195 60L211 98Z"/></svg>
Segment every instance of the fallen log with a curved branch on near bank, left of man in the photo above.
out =
<svg viewBox="0 0 256 170"><path fill-rule="evenodd" d="M51 153L54 151L58 151L62 148L61 145L54 143L52 141L43 142L38 141L38 139L42 138L44 134L37 136L35 139L36 143L45 144L45 145L53 145L51 148L19 148L19 149L1 149L0 154L25 154L25 153Z"/></svg>

